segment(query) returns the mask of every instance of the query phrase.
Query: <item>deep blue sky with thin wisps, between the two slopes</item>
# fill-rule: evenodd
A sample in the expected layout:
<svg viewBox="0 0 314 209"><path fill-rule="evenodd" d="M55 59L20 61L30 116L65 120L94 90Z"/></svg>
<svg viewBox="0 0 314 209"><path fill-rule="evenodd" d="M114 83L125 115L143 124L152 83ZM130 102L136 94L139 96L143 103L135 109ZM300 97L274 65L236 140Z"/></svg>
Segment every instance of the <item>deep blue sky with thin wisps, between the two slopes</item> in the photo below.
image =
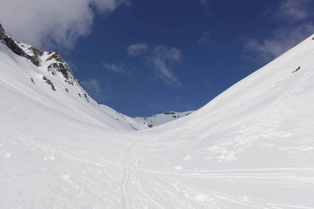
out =
<svg viewBox="0 0 314 209"><path fill-rule="evenodd" d="M131 117L197 110L314 33L311 0L104 2L22 41L59 51L90 96Z"/></svg>

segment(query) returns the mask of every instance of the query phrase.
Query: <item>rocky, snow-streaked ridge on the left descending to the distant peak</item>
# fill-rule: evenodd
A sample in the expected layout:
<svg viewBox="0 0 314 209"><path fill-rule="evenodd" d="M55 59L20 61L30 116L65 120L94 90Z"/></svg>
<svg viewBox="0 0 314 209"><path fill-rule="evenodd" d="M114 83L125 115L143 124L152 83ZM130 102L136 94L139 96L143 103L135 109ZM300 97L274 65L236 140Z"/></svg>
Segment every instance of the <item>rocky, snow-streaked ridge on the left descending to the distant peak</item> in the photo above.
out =
<svg viewBox="0 0 314 209"><path fill-rule="evenodd" d="M58 52L53 51L46 52L34 46L21 43L18 40L14 40L10 38L7 34L5 34L1 24L0 24L0 42L7 46L9 50L14 52L14 54L25 57L26 59L30 60L30 62L33 65L38 67L38 69L30 68L33 69L36 73L34 76L29 76L29 78L27 78L30 79L30 81L33 84L36 85L39 81L44 81L47 85L50 86L52 91L57 91L56 92L57 94L60 94L60 91L65 91L68 94L75 92L76 100L83 99L86 102L91 103L89 105L90 106L89 108L91 109L96 108L98 114L103 115L100 121L102 121L104 117L110 118L109 120L111 120L111 123L114 124L112 128L120 127L119 129L125 130L143 130L176 120L179 117L183 117L183 114L176 112L178 118L171 118L165 115L163 116L163 118L159 117L158 121L156 121L156 119L154 118L152 119L153 122L148 122L142 121L140 117L136 118L128 117L126 115L118 113L117 111L107 106L97 107L100 106L100 104L98 104L89 96L87 91L75 78L71 67L68 65L67 62L65 62L65 60L62 59L61 55ZM64 99L65 99L64 101L67 100L67 98ZM84 109L85 108L82 108L81 111L84 111ZM190 113L193 111L188 112ZM108 116L108 114L110 114L110 116ZM105 119L104 121L107 120L108 119Z"/></svg>

